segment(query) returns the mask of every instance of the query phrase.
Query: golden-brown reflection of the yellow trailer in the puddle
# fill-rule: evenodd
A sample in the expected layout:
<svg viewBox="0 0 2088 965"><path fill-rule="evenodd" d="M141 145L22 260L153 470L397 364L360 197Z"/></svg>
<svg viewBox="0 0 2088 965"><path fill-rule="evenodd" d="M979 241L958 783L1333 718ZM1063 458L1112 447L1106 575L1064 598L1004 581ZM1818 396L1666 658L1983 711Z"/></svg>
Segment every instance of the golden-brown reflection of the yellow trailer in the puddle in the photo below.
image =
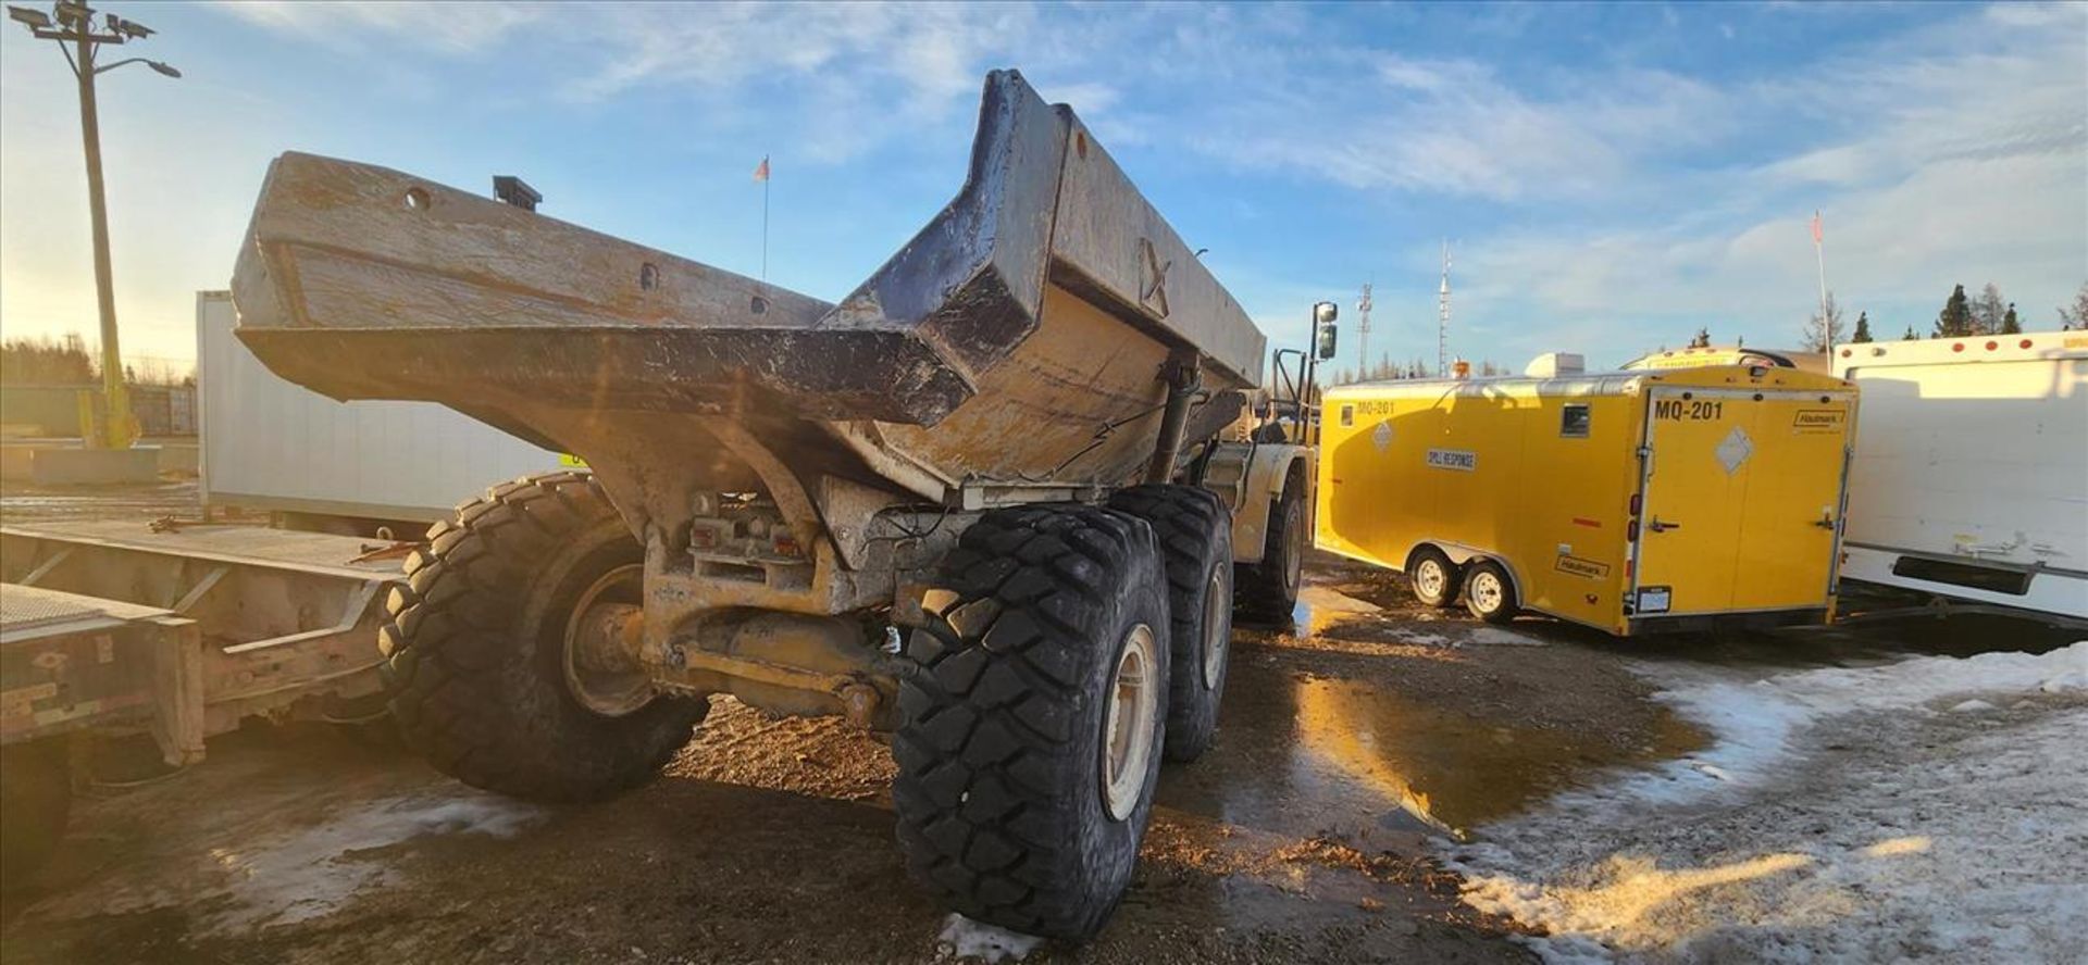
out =
<svg viewBox="0 0 2088 965"><path fill-rule="evenodd" d="M1597 736L1491 723L1384 692L1307 677L1297 684L1292 771L1361 784L1384 802L1460 840L1487 821L1568 786L1576 773L1666 759L1695 744L1679 721L1627 754Z"/></svg>

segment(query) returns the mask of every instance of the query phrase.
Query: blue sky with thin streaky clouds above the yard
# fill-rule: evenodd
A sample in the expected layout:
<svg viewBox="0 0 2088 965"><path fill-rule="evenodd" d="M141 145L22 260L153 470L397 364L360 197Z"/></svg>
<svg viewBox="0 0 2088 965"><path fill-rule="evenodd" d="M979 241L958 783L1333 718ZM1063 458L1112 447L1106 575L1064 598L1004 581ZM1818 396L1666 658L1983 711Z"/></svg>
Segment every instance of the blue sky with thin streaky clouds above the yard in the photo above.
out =
<svg viewBox="0 0 2088 965"><path fill-rule="evenodd" d="M194 354L267 160L309 150L839 298L956 192L979 81L1090 123L1276 344L1376 286L1372 354L1520 365L1879 333L2088 281L2088 4L104 4L186 77L102 77L125 354ZM0 327L94 329L71 75L0 25Z"/></svg>

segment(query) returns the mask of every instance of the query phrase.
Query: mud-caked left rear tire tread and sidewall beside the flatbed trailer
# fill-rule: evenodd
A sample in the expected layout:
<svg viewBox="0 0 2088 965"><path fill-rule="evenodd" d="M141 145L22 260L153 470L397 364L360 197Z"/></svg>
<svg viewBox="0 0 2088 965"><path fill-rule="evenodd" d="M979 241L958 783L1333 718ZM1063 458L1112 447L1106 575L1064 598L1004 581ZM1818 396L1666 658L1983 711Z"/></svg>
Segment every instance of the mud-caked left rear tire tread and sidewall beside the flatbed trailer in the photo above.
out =
<svg viewBox="0 0 2088 965"><path fill-rule="evenodd" d="M438 771L518 798L593 800L654 780L708 702L589 709L566 652L576 607L643 559L589 473L516 479L459 506L407 559L378 636L399 734Z"/></svg>

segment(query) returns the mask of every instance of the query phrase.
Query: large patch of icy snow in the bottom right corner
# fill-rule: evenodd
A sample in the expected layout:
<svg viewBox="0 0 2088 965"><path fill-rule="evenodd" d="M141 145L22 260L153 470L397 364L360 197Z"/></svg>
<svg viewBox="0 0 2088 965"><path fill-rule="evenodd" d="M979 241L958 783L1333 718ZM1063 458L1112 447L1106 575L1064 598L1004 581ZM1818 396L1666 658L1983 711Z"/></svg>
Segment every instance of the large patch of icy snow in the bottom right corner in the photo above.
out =
<svg viewBox="0 0 2088 965"><path fill-rule="evenodd" d="M1996 707L2088 686L2088 642L1764 679L1635 669L1714 746L1449 848L1468 905L1549 932L1526 940L1541 959L2088 961L2088 709ZM1938 711L1965 694L1994 700Z"/></svg>

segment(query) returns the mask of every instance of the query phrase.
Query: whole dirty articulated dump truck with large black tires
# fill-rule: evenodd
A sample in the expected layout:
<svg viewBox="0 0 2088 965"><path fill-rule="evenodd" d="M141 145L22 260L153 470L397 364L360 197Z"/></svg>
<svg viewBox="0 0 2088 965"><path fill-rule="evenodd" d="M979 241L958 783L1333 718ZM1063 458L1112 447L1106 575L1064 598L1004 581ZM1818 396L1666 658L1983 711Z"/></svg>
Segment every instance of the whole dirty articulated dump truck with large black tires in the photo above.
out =
<svg viewBox="0 0 2088 965"><path fill-rule="evenodd" d="M1297 592L1309 452L1219 440L1261 331L1013 71L956 200L839 304L309 154L232 296L294 383L591 467L468 502L388 600L390 709L480 788L637 786L710 694L844 715L892 732L927 890L1079 940L1161 757L1211 742L1234 582Z"/></svg>

